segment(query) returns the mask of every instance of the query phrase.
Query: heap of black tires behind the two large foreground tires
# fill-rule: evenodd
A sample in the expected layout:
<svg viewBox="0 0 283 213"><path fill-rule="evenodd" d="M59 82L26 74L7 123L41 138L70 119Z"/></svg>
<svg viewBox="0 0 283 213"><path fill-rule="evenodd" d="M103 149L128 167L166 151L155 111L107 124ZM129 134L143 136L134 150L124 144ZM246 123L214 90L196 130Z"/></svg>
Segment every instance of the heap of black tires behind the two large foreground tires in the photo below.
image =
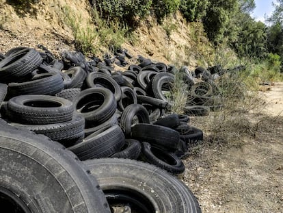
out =
<svg viewBox="0 0 283 213"><path fill-rule="evenodd" d="M174 67L140 56L140 64L119 73L97 58L86 62L81 53L64 52L62 62L51 56L24 47L5 53L5 121L48 136L80 160L129 158L172 174L185 171L180 158L203 133L188 125L189 116L167 114L164 92L172 89ZM189 76L188 90L197 85Z"/></svg>

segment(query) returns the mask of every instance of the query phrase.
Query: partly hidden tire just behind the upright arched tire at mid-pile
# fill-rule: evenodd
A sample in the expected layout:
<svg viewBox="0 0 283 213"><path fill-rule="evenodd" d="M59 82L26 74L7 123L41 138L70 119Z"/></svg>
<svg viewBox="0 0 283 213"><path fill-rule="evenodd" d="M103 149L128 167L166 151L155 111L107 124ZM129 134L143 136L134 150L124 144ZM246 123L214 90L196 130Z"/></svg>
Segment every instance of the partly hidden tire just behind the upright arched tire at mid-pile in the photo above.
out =
<svg viewBox="0 0 283 213"><path fill-rule="evenodd" d="M137 95L128 86L121 86L122 96L118 102L118 109L124 111L128 105L137 104Z"/></svg>

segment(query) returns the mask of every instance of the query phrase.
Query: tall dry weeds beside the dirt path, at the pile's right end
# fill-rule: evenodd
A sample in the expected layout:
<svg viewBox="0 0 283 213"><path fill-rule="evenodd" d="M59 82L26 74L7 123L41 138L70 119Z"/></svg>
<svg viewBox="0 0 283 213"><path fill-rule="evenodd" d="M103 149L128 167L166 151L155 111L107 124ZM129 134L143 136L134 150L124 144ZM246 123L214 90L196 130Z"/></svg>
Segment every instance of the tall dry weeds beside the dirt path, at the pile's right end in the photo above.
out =
<svg viewBox="0 0 283 213"><path fill-rule="evenodd" d="M191 125L204 131L208 142L232 142L243 136L254 136L254 123L248 113L264 107L256 90L250 90L241 75L224 75L217 82L223 107L208 116L193 117Z"/></svg>

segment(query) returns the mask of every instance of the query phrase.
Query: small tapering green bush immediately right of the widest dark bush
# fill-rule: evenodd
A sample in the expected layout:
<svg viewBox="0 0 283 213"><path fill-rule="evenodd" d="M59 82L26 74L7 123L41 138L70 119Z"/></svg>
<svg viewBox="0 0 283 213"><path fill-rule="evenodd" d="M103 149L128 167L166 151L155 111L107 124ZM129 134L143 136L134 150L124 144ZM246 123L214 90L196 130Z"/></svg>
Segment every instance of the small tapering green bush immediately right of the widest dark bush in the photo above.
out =
<svg viewBox="0 0 283 213"><path fill-rule="evenodd" d="M161 23L165 16L172 14L178 10L180 6L180 0L153 0L152 8L157 15L157 21Z"/></svg>

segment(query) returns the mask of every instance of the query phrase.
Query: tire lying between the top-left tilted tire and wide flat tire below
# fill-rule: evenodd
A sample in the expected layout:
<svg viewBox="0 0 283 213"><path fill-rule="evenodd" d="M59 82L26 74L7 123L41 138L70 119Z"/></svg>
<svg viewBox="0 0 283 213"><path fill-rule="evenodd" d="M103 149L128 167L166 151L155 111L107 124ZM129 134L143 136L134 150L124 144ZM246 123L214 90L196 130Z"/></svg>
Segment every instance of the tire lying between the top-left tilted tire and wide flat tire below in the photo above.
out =
<svg viewBox="0 0 283 213"><path fill-rule="evenodd" d="M33 76L31 81L10 83L9 95L55 95L64 89L61 75L44 73Z"/></svg>

